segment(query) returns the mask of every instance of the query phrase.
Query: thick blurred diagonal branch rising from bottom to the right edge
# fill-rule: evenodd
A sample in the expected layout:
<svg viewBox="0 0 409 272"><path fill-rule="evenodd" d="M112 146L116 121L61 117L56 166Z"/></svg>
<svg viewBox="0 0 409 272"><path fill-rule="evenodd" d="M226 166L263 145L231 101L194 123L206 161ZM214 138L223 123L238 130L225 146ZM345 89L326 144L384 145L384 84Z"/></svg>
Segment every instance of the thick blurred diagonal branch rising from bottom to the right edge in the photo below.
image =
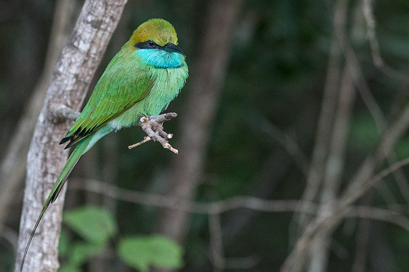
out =
<svg viewBox="0 0 409 272"><path fill-rule="evenodd" d="M349 181L347 188L337 200L326 205L314 220L305 228L301 238L297 241L296 246L288 255L283 266L282 272L299 271L305 262L305 257L308 250L315 239L319 239L323 231L328 231L337 226L351 210L351 204L366 193L376 182L384 178L389 172L382 170L375 175L377 167L383 162L392 152L393 145L409 128L409 105L402 112L401 116L385 130L385 134L378 146L376 152L367 157L359 167L355 176ZM409 158L408 158L409 159ZM391 166L391 168L402 166L401 163L407 163L405 159Z"/></svg>

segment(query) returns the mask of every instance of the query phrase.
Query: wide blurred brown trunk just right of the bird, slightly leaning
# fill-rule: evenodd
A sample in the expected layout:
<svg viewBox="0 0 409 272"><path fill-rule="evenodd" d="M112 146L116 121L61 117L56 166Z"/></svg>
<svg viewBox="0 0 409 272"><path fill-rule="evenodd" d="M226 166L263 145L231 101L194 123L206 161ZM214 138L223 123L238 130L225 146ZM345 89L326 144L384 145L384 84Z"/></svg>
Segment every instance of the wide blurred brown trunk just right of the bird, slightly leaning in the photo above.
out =
<svg viewBox="0 0 409 272"><path fill-rule="evenodd" d="M192 199L199 184L203 157L209 137L209 127L216 111L217 98L228 64L232 32L242 1L213 1L208 12L208 24L203 36L198 65L184 115L179 142L180 154L174 156L167 186L169 194ZM188 214L164 211L159 230L176 241L182 241L187 230Z"/></svg>

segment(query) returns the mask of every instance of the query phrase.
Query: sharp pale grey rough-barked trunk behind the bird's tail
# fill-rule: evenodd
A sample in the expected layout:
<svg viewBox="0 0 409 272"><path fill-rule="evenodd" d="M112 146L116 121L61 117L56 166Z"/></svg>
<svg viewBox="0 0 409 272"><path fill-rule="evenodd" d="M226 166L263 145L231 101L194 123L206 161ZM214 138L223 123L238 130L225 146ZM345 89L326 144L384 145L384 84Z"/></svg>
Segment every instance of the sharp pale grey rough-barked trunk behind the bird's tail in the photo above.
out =
<svg viewBox="0 0 409 272"><path fill-rule="evenodd" d="M61 105L75 111L80 109L125 3L126 0L85 1L54 69L28 153L15 271L19 269L35 221L68 155L58 143L72 121L56 118L55 110ZM27 254L24 271L57 270L64 195L65 189L44 214Z"/></svg>

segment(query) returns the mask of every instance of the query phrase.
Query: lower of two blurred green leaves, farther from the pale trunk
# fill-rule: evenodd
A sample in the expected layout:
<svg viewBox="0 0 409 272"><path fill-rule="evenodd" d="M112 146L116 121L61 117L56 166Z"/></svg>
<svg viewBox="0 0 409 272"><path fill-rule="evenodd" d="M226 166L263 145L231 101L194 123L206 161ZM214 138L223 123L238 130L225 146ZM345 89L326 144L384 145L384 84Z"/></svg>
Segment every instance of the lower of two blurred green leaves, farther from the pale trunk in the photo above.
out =
<svg viewBox="0 0 409 272"><path fill-rule="evenodd" d="M118 255L142 272L148 271L150 265L162 268L183 266L183 249L171 239L159 235L124 238L119 242Z"/></svg>

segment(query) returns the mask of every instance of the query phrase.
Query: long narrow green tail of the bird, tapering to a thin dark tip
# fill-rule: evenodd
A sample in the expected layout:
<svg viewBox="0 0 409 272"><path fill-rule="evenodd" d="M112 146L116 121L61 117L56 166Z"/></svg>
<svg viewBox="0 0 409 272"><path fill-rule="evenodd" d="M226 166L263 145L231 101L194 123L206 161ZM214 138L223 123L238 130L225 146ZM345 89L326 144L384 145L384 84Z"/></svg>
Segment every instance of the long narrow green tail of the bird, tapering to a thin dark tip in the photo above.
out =
<svg viewBox="0 0 409 272"><path fill-rule="evenodd" d="M81 156L90 148L87 149L87 146L90 142L90 140L93 138L93 135L90 135L88 137L86 137L85 139L83 139L82 141L80 141L77 146L75 147L73 153L70 155L70 158L68 158L67 162L65 163L64 167L62 168L61 174L58 176L57 181L54 183L53 188L51 189L51 192L48 196L48 199L46 201L46 203L44 204L44 206L42 207L41 213L38 216L38 219L35 223L34 229L31 232L30 235L30 239L27 243L26 246L26 250L24 252L24 256L22 257L22 261L21 261L21 266L20 266L20 272L22 271L22 267L24 265L24 261L26 259L26 255L27 252L29 250L29 246L31 243L31 240L33 239L34 233L38 227L38 224L42 218L42 216L44 215L44 212L46 212L48 206L53 203L56 199L57 196L59 194L59 192L62 189L62 186L64 185L65 181L67 180L68 176L70 175L71 170L74 168L75 164L78 162L78 160L81 158Z"/></svg>

